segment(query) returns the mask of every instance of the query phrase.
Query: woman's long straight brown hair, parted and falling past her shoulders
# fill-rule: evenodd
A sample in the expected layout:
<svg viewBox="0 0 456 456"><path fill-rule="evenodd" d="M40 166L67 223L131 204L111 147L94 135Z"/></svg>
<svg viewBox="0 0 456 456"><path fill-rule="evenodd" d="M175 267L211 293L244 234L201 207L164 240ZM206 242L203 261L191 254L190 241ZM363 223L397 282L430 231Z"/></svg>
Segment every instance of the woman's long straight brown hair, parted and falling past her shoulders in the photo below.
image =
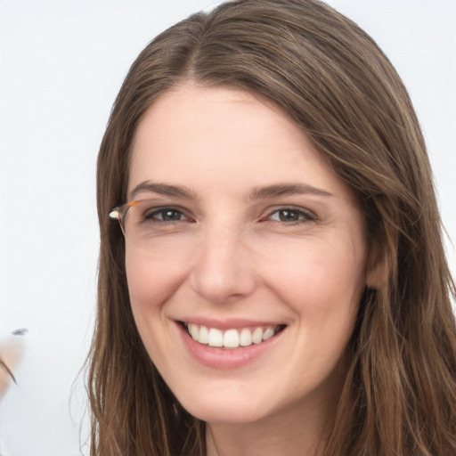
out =
<svg viewBox="0 0 456 456"><path fill-rule="evenodd" d="M240 0L148 45L118 94L98 158L98 314L88 379L93 456L201 456L204 423L176 402L130 310L124 244L135 128L191 79L266 97L312 138L357 194L381 285L366 289L326 456L456 454L455 288L419 122L379 47L317 0Z"/></svg>

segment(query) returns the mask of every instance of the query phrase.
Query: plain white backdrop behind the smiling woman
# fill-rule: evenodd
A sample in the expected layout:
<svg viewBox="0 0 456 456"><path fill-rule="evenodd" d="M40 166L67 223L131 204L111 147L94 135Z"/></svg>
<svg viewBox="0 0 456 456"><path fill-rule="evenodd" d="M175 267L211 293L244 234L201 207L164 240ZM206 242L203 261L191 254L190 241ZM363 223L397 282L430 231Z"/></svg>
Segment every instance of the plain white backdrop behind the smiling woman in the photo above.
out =
<svg viewBox="0 0 456 456"><path fill-rule="evenodd" d="M144 45L217 3L0 0L0 343L28 329L18 386L0 406L4 456L87 454L77 375L94 322L97 149ZM376 39L409 88L456 240L456 1L329 3Z"/></svg>

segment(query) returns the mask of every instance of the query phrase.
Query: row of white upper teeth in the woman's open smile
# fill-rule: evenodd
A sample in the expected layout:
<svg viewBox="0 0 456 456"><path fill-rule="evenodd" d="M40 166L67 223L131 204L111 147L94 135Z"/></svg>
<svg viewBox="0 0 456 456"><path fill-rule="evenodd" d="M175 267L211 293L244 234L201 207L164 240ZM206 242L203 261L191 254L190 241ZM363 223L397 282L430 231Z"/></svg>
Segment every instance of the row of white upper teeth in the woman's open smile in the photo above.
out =
<svg viewBox="0 0 456 456"><path fill-rule="evenodd" d="M254 330L243 328L242 330L217 330L199 326L194 323L186 324L191 338L209 346L224 346L226 348L237 348L238 346L251 346L259 344L268 338L272 338L276 332L276 326L257 327Z"/></svg>

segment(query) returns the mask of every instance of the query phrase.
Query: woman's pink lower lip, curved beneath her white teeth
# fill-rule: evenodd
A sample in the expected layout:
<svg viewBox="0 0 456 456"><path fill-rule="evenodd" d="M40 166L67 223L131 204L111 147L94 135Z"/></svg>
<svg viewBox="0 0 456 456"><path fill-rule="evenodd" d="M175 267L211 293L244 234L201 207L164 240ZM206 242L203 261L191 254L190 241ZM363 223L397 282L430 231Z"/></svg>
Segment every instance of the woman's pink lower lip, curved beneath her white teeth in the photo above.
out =
<svg viewBox="0 0 456 456"><path fill-rule="evenodd" d="M250 362L254 362L257 358L265 355L266 352L273 348L277 339L281 337L281 333L283 332L282 330L273 338L265 340L260 344L224 349L199 344L199 342L196 342L191 338L188 331L183 328L181 323L176 323L176 325L181 333L183 345L190 352L193 359L205 366L222 370L238 369Z"/></svg>

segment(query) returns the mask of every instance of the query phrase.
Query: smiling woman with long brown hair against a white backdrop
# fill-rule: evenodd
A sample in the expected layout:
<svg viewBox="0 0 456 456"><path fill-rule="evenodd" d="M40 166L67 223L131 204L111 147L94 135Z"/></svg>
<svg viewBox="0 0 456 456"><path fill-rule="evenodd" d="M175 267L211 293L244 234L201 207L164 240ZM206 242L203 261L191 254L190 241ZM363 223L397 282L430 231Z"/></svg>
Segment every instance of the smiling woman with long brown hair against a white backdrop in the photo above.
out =
<svg viewBox="0 0 456 456"><path fill-rule="evenodd" d="M241 0L167 29L118 94L98 211L93 455L456 452L425 145L353 22Z"/></svg>

